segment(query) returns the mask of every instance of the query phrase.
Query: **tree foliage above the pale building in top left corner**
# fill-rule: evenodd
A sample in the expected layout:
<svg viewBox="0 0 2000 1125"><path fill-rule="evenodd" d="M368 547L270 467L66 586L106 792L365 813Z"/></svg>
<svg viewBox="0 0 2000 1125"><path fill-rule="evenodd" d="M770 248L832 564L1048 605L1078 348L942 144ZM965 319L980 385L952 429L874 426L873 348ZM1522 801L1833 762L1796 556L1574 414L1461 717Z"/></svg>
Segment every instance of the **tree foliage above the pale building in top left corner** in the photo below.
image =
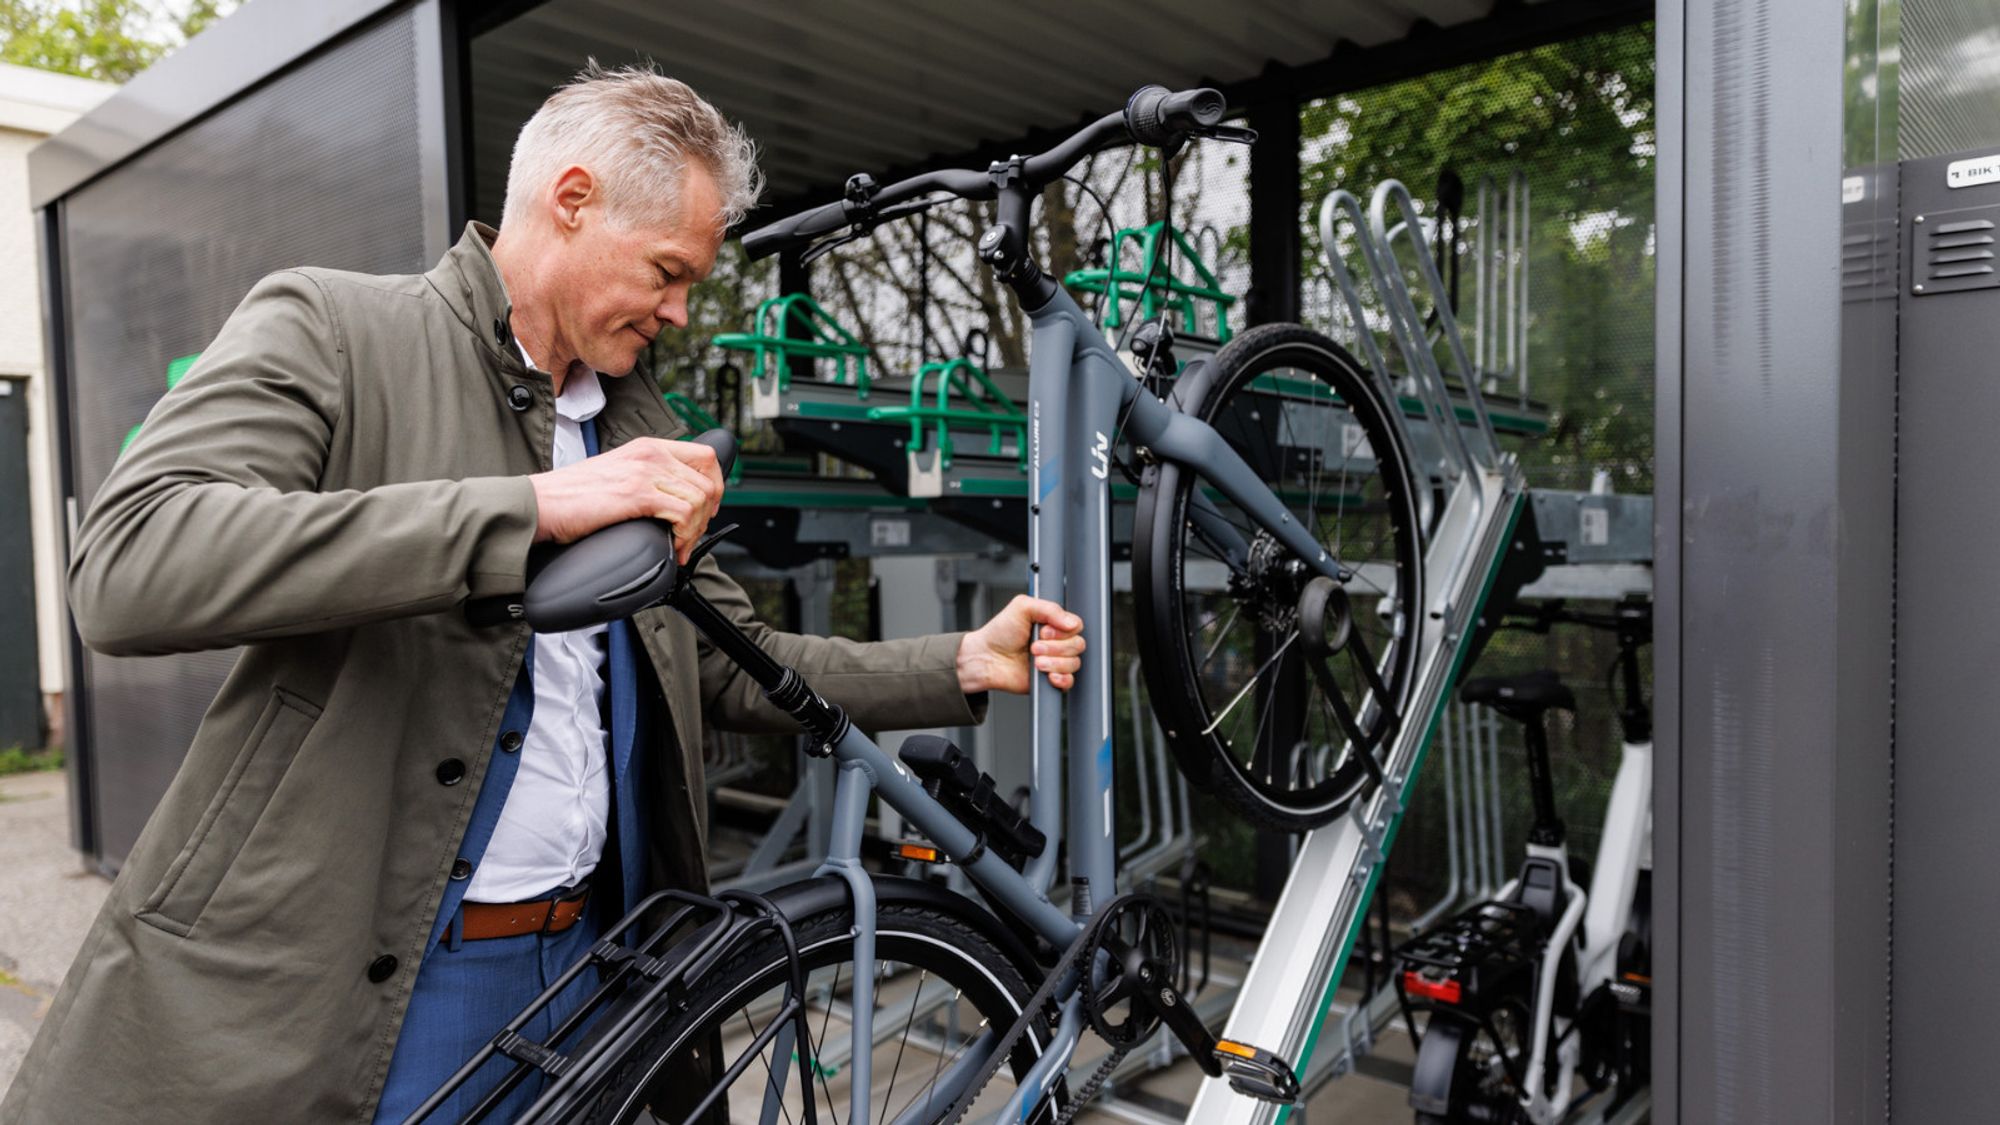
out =
<svg viewBox="0 0 2000 1125"><path fill-rule="evenodd" d="M128 82L238 0L0 0L0 62Z"/></svg>

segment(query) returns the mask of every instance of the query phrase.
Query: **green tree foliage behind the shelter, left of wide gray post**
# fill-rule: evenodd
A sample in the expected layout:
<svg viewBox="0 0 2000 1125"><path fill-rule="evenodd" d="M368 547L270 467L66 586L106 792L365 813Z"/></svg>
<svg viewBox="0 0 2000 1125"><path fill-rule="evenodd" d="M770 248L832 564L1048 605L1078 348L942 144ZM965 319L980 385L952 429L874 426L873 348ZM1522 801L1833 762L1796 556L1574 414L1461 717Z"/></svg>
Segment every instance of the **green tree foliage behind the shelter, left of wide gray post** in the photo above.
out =
<svg viewBox="0 0 2000 1125"><path fill-rule="evenodd" d="M1536 484L1582 488L1604 468L1620 490L1652 488L1652 26L1638 24L1340 94L1300 118L1308 224L1334 188L1366 200L1400 178L1424 198L1450 168L1470 196L1482 176L1528 174L1530 394L1552 422L1518 450ZM1318 252L1312 230L1308 276Z"/></svg>

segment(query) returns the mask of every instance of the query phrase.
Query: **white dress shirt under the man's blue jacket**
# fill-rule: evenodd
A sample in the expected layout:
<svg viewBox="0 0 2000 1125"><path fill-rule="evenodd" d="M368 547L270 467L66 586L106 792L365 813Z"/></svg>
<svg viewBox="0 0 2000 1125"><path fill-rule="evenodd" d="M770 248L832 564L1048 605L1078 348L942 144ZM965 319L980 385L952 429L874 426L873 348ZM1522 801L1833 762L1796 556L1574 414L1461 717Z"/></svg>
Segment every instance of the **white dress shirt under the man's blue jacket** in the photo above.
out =
<svg viewBox="0 0 2000 1125"><path fill-rule="evenodd" d="M526 348L520 354L528 358ZM556 396L554 468L584 458L582 422L602 408L596 372L574 366ZM612 807L602 717L606 635L602 625L534 635L534 715L466 901L524 903L574 887L598 867Z"/></svg>

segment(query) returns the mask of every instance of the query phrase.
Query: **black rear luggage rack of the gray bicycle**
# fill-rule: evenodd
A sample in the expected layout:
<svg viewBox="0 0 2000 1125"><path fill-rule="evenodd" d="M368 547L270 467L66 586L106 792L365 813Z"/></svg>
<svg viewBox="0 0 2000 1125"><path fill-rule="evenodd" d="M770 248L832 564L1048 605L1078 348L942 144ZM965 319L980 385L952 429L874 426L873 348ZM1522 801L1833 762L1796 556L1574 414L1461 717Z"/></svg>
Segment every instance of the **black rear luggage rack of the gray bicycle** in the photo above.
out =
<svg viewBox="0 0 2000 1125"><path fill-rule="evenodd" d="M646 919L666 915L666 921L640 941L624 939L642 933ZM590 953L564 969L542 995L528 1003L480 1047L442 1087L438 1087L404 1125L426 1121L454 1091L466 1085L494 1057L514 1059L514 1069L462 1119L466 1125L484 1121L530 1073L548 1077L542 1095L520 1115L516 1125L552 1125L570 1121L606 1093L618 1069L634 1049L666 1019L678 1015L686 991L702 975L726 963L746 945L776 937L786 951L788 975L784 997L752 1041L718 1077L716 1085L688 1113L702 1119L716 1099L724 1097L742 1071L762 1057L774 1039L810 1043L806 1023L806 973L798 961L792 927L768 899L750 891L724 891L716 897L686 891L662 891L642 901L632 913L606 931ZM598 973L600 985L570 1013L546 1043L522 1035L538 1013L564 993L584 973ZM572 1037L580 1039L568 1045ZM796 1037L796 1039L794 1039ZM810 1051L792 1051L800 1081L812 1081ZM782 1055L778 1055L782 1057ZM802 1087L804 1089L804 1087ZM816 1125L818 1115L808 1097L804 1123Z"/></svg>

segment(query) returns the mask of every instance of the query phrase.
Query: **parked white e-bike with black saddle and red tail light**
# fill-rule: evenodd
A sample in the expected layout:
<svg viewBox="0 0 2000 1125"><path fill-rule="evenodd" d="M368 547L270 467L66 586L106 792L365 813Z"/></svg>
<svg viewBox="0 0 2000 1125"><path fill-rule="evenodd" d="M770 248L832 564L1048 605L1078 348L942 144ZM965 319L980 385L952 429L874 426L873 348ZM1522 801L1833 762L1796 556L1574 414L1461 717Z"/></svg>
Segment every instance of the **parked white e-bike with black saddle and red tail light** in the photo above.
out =
<svg viewBox="0 0 2000 1125"><path fill-rule="evenodd" d="M1610 1115L1648 1083L1652 713L1638 651L1652 641L1652 605L1626 601L1610 615L1592 615L1556 603L1510 627L1548 631L1556 623L1618 637L1612 679L1624 751L1596 867L1572 875L1542 727L1548 711L1574 711L1576 697L1550 671L1468 681L1460 689L1466 703L1522 725L1534 825L1520 873L1496 899L1396 951L1404 1011L1428 1015L1410 1083L1418 1123L1548 1125L1600 1095Z"/></svg>

